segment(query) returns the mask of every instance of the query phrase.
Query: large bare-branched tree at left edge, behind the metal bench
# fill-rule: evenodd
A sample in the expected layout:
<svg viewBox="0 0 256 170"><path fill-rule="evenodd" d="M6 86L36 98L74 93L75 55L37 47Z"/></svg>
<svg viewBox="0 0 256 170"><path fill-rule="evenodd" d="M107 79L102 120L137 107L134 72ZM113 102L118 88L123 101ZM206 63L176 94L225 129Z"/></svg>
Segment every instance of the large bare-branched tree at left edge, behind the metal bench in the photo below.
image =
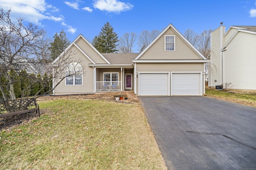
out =
<svg viewBox="0 0 256 170"><path fill-rule="evenodd" d="M24 25L23 18L17 18L13 22L10 14L11 10L5 12L0 9L0 91L4 100L16 99L14 84L19 81L16 79L17 76L27 77L30 81L28 86L24 87L25 90L31 88L35 83L40 83L41 89L33 96L39 97L38 94L53 79L63 80L66 76L80 74L79 72L68 72L68 74L66 72L68 64L79 63L72 58L74 55L72 51L64 51L58 62L49 65L50 52L48 47L50 41L45 38L46 32L43 29L38 29L32 23ZM56 72L52 74L53 66L59 74ZM32 69L32 72L27 72L28 68L36 68L37 71ZM38 75L39 71L44 76L33 78L33 76ZM58 84L49 88L41 96L56 88ZM23 95L23 97L28 96Z"/></svg>

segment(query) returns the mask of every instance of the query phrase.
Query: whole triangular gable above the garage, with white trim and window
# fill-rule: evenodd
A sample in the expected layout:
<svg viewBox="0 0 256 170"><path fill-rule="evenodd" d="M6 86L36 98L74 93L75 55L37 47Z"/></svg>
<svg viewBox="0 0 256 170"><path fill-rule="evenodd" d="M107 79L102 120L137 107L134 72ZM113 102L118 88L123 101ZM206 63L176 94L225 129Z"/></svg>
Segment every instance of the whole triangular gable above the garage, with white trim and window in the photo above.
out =
<svg viewBox="0 0 256 170"><path fill-rule="evenodd" d="M169 24L136 60L206 60L206 58Z"/></svg>

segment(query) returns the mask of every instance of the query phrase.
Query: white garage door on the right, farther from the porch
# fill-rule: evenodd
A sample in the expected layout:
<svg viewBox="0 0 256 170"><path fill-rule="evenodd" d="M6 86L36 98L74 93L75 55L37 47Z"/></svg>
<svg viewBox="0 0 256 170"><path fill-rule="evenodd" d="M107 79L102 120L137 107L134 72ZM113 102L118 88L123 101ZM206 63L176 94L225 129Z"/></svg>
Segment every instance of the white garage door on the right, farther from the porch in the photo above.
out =
<svg viewBox="0 0 256 170"><path fill-rule="evenodd" d="M200 95L200 74L172 73L172 95Z"/></svg>

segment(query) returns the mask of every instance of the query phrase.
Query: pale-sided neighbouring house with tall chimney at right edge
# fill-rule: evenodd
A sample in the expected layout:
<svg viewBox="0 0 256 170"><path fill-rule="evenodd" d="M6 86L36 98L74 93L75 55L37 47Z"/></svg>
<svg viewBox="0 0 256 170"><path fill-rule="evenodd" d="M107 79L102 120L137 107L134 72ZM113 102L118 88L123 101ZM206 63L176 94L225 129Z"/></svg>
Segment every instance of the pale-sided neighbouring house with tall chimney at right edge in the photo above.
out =
<svg viewBox="0 0 256 170"><path fill-rule="evenodd" d="M256 90L256 26L222 25L211 33L208 86Z"/></svg>

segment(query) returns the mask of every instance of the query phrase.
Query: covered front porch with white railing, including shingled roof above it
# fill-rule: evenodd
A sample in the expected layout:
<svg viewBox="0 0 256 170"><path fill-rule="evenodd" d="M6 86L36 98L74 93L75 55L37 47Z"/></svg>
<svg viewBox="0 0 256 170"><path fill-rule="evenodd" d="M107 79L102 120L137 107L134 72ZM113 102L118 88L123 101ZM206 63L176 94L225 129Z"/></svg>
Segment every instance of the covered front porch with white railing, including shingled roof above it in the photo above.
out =
<svg viewBox="0 0 256 170"><path fill-rule="evenodd" d="M94 68L94 93L134 90L134 60L139 53L102 53L109 64L88 64Z"/></svg>

